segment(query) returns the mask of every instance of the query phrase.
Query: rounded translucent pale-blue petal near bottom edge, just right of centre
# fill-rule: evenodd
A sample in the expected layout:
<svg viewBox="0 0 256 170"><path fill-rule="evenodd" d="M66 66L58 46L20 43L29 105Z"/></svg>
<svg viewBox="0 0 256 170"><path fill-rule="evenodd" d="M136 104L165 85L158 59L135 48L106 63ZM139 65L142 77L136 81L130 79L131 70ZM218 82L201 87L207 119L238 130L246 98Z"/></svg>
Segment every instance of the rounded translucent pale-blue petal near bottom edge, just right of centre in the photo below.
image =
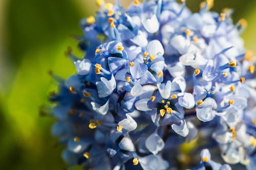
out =
<svg viewBox="0 0 256 170"><path fill-rule="evenodd" d="M153 133L147 137L145 145L148 151L156 155L164 148L164 141L157 133Z"/></svg>

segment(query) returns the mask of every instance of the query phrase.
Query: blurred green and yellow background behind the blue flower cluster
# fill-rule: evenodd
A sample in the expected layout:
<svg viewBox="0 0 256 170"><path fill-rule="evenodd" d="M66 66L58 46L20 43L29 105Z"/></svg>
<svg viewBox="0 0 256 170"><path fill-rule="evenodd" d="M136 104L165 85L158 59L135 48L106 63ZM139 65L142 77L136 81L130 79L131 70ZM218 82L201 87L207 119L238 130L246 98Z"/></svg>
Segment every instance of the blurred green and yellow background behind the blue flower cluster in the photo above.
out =
<svg viewBox="0 0 256 170"><path fill-rule="evenodd" d="M132 0L121 0L129 4ZM108 1L111 2L111 1ZM192 11L198 0L187 0ZM234 9L234 22L248 21L245 46L256 50L256 1L216 0L214 10ZM41 117L48 92L56 88L47 72L74 74L64 53L81 35L79 21L94 15L94 0L0 0L0 165L1 169L63 169L63 149L50 133L54 118ZM75 167L74 169L79 169Z"/></svg>

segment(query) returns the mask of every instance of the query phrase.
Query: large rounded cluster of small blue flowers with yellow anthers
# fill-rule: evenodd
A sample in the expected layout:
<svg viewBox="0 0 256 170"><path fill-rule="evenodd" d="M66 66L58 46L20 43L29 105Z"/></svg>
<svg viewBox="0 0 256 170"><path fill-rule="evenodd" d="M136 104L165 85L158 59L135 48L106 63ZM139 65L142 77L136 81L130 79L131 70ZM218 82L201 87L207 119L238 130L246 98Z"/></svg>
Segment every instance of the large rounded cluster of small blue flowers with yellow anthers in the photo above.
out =
<svg viewBox="0 0 256 170"><path fill-rule="evenodd" d="M185 0L135 0L127 9L118 0L96 3L76 37L83 59L67 53L77 74L52 74L59 82L50 95L52 133L67 146L63 159L85 169L181 169L208 148L218 161L255 168L255 60L240 37L246 21L234 25L231 9L209 11L213 0L199 13ZM209 150L193 169L231 169Z"/></svg>

